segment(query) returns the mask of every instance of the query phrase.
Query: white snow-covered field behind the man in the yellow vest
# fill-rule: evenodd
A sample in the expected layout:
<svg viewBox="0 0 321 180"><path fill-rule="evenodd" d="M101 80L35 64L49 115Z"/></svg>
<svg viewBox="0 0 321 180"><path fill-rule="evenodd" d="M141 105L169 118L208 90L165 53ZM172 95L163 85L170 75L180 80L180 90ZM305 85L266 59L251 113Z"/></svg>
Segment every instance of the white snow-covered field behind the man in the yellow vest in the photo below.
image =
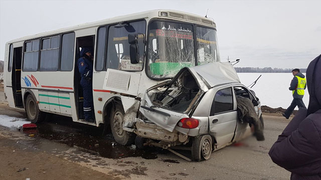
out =
<svg viewBox="0 0 321 180"><path fill-rule="evenodd" d="M257 83L252 87L262 105L270 107L287 108L292 101L292 91L288 89L292 73L238 73L244 85L252 83L260 74ZM303 73L305 75L305 73ZM303 102L307 107L309 95L307 88L304 92ZM296 107L297 109L297 107Z"/></svg>

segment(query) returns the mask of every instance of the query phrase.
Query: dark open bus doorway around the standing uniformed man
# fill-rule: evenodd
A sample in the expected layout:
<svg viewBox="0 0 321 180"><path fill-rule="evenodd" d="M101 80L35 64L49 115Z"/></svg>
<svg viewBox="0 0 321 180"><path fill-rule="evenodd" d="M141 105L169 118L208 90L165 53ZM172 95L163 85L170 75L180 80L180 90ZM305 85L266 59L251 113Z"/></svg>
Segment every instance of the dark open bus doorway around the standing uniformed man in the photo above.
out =
<svg viewBox="0 0 321 180"><path fill-rule="evenodd" d="M75 100L76 100L75 103L76 103L78 119L85 119L84 111L83 111L84 96L83 96L83 91L82 91L82 87L80 84L81 75L78 70L79 53L80 53L81 48L83 48L83 47L90 48L94 52L95 35L77 37L77 41L76 41L74 84L75 84ZM94 113L94 109L92 109L92 112Z"/></svg>

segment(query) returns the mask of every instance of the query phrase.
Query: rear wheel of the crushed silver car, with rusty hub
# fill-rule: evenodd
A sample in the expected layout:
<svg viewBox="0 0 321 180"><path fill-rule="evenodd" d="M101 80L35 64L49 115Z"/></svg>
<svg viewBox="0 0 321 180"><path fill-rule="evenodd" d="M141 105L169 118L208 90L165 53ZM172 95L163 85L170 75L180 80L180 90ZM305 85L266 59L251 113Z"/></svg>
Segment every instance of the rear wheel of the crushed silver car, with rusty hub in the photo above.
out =
<svg viewBox="0 0 321 180"><path fill-rule="evenodd" d="M195 161L207 160L210 158L213 149L211 135L198 136L193 140L192 159Z"/></svg>

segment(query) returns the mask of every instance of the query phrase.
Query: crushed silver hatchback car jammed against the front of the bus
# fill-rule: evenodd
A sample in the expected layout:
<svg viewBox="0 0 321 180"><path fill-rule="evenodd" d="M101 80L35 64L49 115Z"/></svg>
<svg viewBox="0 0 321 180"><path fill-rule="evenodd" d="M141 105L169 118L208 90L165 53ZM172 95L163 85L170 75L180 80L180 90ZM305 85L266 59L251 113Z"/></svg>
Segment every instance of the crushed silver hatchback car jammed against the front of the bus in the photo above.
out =
<svg viewBox="0 0 321 180"><path fill-rule="evenodd" d="M214 150L251 134L249 123L238 120L236 95L254 101L262 118L259 99L240 83L230 63L184 67L173 79L146 90L132 123L135 144L174 153L173 148L184 146L192 151L193 160L208 159Z"/></svg>

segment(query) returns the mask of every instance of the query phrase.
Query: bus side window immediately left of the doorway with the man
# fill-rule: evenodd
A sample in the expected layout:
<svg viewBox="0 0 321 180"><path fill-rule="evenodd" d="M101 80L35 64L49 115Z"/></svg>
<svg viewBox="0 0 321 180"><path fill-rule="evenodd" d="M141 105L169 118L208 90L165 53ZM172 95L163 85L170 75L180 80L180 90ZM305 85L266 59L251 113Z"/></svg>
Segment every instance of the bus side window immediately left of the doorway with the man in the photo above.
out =
<svg viewBox="0 0 321 180"><path fill-rule="evenodd" d="M72 70L74 61L75 33L67 33L62 36L61 70Z"/></svg>

